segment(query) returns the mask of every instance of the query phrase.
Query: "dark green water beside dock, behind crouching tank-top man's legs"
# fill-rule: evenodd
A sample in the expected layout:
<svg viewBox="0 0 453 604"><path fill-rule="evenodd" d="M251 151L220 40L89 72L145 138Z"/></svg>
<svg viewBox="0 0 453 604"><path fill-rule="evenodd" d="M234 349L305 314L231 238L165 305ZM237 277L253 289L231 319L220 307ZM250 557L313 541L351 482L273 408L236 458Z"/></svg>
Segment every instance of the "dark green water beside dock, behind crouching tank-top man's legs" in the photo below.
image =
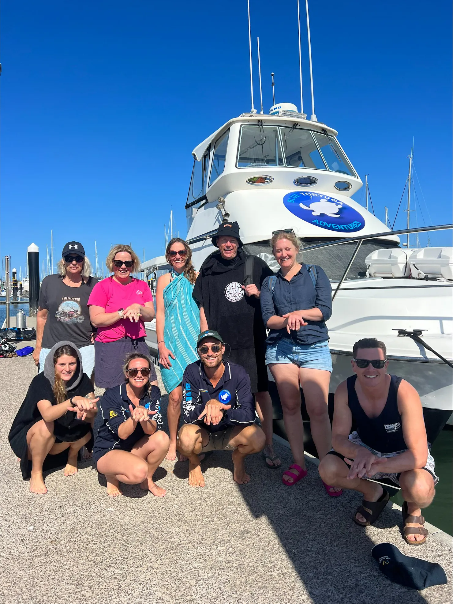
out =
<svg viewBox="0 0 453 604"><path fill-rule="evenodd" d="M453 535L453 489L452 489L452 457L453 457L453 430L444 428L434 441L431 449L432 457L436 461L436 474L439 483L436 487L436 497L431 506L423 509L426 521L437 528L441 528L449 535ZM401 492L391 498L398 506L402 506Z"/></svg>

